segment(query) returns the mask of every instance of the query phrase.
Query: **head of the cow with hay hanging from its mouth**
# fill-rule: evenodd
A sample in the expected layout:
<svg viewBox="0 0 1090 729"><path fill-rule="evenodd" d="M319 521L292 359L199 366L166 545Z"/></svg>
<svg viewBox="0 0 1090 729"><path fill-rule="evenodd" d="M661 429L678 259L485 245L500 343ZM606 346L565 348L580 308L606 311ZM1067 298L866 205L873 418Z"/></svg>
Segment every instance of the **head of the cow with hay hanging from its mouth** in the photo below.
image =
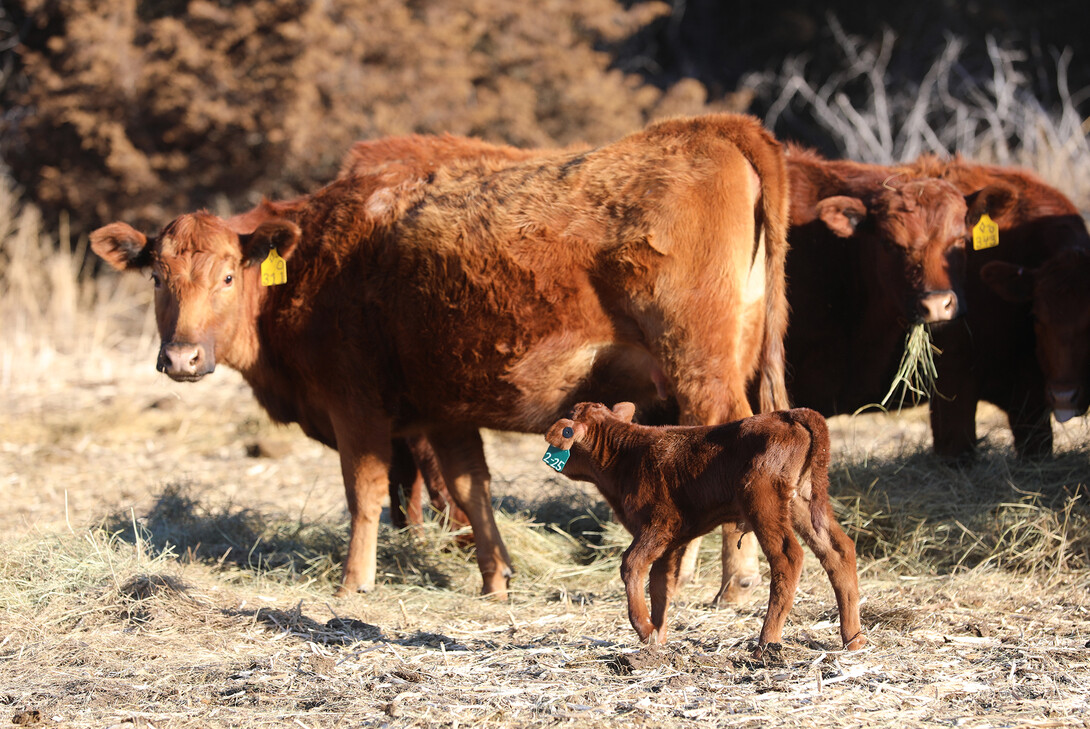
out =
<svg viewBox="0 0 1090 729"><path fill-rule="evenodd" d="M906 321L934 324L964 313L971 228L1005 204L998 187L966 197L942 180L893 178L867 203L819 201L816 215L834 234L859 241L863 276L879 301Z"/></svg>

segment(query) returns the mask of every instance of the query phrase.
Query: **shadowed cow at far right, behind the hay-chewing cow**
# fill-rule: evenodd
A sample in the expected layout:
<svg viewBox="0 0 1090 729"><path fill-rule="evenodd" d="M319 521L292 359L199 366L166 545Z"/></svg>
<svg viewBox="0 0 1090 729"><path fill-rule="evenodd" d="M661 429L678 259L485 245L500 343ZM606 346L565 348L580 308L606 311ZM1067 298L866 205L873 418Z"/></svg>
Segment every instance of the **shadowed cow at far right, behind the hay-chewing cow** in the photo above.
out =
<svg viewBox="0 0 1090 729"><path fill-rule="evenodd" d="M1052 452L1050 415L1064 423L1090 404L1090 234L1078 208L1036 174L961 157L923 156L913 169L962 192L1005 185L991 217L997 245L969 252L962 326L936 332L941 397L931 400L935 451L977 447L977 403L1006 413L1016 452Z"/></svg>

